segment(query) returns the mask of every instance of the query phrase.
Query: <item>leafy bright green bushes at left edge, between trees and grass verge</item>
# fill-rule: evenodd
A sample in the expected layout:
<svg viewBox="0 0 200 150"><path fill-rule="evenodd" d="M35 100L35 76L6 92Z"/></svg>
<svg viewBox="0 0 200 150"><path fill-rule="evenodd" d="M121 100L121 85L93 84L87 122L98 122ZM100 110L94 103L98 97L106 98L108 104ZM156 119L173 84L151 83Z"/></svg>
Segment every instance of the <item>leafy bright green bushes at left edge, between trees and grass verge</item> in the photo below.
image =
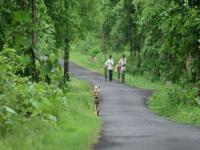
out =
<svg viewBox="0 0 200 150"><path fill-rule="evenodd" d="M64 93L57 86L43 82L32 83L28 78L15 75L19 65L14 65L14 62L19 57L12 52L12 57L0 55L1 133L9 132L16 121L24 122L35 117L56 122L63 107Z"/></svg>

